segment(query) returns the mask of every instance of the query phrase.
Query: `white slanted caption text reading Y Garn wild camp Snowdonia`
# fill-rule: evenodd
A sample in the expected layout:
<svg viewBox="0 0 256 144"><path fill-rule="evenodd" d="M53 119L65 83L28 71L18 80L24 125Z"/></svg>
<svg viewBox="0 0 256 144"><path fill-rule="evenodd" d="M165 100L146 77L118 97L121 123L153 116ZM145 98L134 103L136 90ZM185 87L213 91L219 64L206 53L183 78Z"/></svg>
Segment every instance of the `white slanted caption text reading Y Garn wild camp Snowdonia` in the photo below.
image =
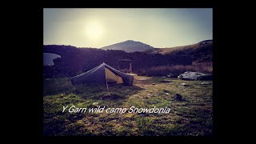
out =
<svg viewBox="0 0 256 144"><path fill-rule="evenodd" d="M76 106L63 106L62 113L110 113L110 114L124 114L124 113L170 113L170 108L138 108L130 106L130 108L106 108L106 106L97 107L76 107Z"/></svg>

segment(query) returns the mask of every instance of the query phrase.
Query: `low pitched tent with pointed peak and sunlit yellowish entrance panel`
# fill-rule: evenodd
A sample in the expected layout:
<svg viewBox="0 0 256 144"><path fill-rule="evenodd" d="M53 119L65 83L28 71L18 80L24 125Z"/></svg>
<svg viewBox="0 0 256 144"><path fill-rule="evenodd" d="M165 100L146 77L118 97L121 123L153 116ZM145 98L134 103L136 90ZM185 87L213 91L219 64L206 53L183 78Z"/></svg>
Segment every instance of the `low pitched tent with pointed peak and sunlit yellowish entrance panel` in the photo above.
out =
<svg viewBox="0 0 256 144"><path fill-rule="evenodd" d="M122 73L103 62L86 73L74 76L71 78L71 82L73 85L84 83L103 85L106 85L106 83L123 83L125 85L133 85L134 76Z"/></svg>

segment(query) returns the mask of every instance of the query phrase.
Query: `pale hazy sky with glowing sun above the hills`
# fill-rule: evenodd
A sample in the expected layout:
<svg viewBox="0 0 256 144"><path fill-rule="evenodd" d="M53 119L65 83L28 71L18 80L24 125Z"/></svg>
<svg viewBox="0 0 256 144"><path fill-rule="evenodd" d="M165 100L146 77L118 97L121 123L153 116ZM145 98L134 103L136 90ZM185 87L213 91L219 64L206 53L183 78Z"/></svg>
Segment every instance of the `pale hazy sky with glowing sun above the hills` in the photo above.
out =
<svg viewBox="0 0 256 144"><path fill-rule="evenodd" d="M134 40L156 48L185 46L213 38L213 10L43 10L43 44L101 48Z"/></svg>

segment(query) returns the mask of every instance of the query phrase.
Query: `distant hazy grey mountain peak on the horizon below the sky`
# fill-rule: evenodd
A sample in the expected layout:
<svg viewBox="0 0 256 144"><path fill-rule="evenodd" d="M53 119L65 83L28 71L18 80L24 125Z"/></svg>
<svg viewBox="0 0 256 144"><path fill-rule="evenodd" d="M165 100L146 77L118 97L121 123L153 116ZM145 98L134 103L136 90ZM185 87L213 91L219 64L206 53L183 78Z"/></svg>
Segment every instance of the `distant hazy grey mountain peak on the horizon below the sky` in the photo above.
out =
<svg viewBox="0 0 256 144"><path fill-rule="evenodd" d="M142 42L136 42L132 40L119 42L114 45L102 47L102 50L124 50L128 53L135 52L135 51L141 52L141 51L150 50L150 49L154 49L154 47Z"/></svg>

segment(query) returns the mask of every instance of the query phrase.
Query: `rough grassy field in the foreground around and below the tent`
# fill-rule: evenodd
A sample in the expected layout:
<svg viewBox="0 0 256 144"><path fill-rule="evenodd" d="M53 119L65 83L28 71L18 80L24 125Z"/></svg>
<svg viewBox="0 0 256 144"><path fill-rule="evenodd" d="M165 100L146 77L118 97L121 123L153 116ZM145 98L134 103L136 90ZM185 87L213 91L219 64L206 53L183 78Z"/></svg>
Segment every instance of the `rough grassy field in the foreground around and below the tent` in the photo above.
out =
<svg viewBox="0 0 256 144"><path fill-rule="evenodd" d="M163 80L171 82L162 82ZM185 82L189 86L181 86ZM70 78L44 80L43 123L46 135L211 135L213 93L202 81L134 77L134 86L72 86ZM154 85L152 85L154 83ZM174 94L184 100L177 101ZM63 106L166 107L169 114L62 113Z"/></svg>

